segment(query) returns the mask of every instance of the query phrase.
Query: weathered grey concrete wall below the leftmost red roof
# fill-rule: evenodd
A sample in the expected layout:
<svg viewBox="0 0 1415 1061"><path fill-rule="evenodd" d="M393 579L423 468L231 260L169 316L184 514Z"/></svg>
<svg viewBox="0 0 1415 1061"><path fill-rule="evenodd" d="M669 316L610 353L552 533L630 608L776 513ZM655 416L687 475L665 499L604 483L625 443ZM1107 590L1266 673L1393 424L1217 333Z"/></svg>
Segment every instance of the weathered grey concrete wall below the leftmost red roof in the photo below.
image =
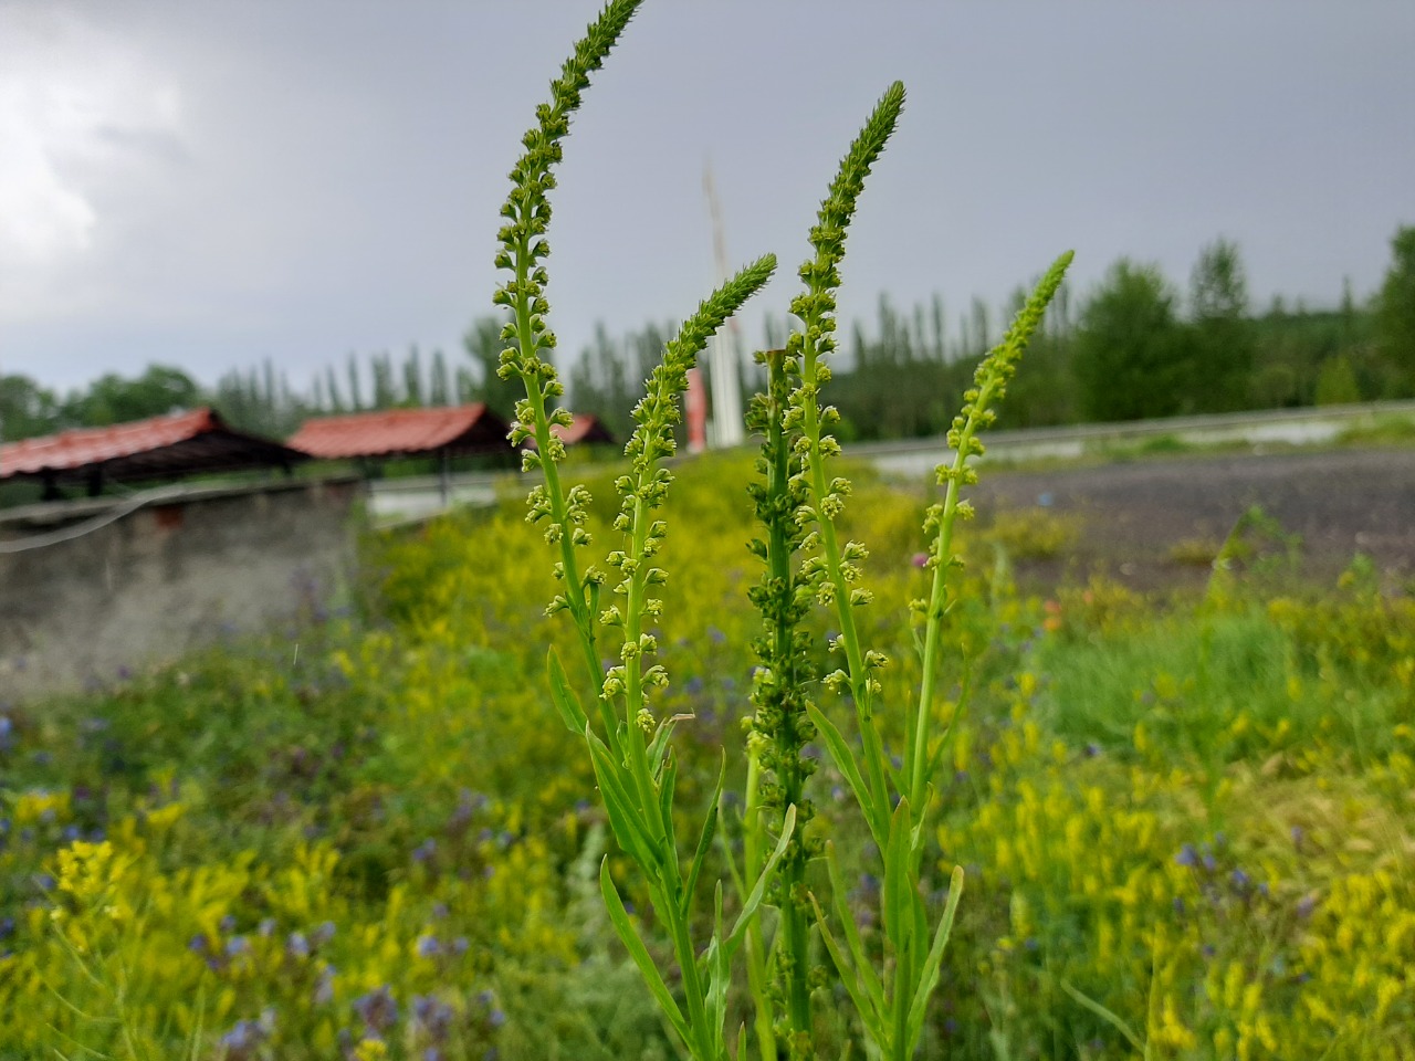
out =
<svg viewBox="0 0 1415 1061"><path fill-rule="evenodd" d="M347 598L361 492L279 482L0 511L0 705Z"/></svg>

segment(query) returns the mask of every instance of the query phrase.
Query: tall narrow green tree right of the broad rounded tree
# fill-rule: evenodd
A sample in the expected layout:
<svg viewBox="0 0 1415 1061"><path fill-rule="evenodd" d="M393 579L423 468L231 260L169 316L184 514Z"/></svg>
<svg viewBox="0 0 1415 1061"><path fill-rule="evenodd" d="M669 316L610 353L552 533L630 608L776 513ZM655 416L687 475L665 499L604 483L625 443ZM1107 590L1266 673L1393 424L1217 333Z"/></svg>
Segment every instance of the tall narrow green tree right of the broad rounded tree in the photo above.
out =
<svg viewBox="0 0 1415 1061"><path fill-rule="evenodd" d="M1248 323L1248 277L1238 245L1206 246L1190 274L1194 335L1183 412L1227 413L1251 405L1254 331Z"/></svg>

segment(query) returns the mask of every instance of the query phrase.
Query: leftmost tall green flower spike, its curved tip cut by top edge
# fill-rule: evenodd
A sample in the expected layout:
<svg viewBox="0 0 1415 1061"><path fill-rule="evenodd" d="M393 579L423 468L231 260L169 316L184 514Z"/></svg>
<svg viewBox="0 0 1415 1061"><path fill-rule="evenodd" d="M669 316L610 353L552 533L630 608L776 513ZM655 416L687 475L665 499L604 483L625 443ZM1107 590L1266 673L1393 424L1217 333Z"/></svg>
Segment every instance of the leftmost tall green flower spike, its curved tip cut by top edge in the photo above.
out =
<svg viewBox="0 0 1415 1061"><path fill-rule="evenodd" d="M558 464L565 457L565 443L555 429L569 427L570 414L556 407L565 386L542 352L555 349L555 332L546 324L549 306L545 298L545 259L550 245L545 239L550 224L549 192L555 188L556 163L560 161L560 141L570 132L570 116L580 106L580 96L590 83L590 75L600 69L604 58L628 25L641 0L611 0L590 24L574 52L560 68L560 76L550 83L550 102L536 108L536 124L521 140L525 151L511 170L511 194L501 208L497 269L509 279L497 289L492 301L505 307L511 320L501 332L507 349L501 352L498 373L502 379L519 376L526 396L516 403L511 426L512 446L533 441L522 460L526 471L541 468L545 482L531 491L526 519L545 523L546 542L559 550L556 577L565 584L546 611L569 611L580 635L584 666L591 680L600 676L599 652L594 645L593 615L597 610L599 584L603 576L593 567L580 574L576 550L590 543L584 529L590 494L583 487L565 492ZM601 720L613 726L601 706Z"/></svg>

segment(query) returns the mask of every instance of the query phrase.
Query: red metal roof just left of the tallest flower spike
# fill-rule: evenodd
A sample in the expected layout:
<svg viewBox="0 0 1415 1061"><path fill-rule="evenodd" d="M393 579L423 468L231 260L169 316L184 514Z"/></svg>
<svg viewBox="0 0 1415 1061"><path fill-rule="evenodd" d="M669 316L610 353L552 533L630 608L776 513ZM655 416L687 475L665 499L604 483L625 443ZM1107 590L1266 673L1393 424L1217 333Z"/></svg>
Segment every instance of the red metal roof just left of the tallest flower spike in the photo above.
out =
<svg viewBox="0 0 1415 1061"><path fill-rule="evenodd" d="M485 403L451 409L389 409L306 420L290 446L311 457L392 457L449 450L511 450L505 420Z"/></svg>

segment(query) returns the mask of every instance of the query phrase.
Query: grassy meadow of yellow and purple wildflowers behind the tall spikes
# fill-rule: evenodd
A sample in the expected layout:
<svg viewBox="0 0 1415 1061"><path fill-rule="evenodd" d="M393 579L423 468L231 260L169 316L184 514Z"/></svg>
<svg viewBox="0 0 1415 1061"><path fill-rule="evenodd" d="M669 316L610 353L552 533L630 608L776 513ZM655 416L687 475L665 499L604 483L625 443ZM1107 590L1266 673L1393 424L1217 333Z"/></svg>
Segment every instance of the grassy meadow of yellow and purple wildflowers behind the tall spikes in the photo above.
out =
<svg viewBox="0 0 1415 1061"><path fill-rule="evenodd" d="M750 470L678 474L661 703L692 716L693 821L726 748L730 846L761 622ZM857 471L845 516L873 550L860 614L887 683L918 678L924 504ZM606 478L596 508L607 525ZM0 1058L676 1055L600 898L601 856L624 866L546 693L548 647L576 647L521 511L369 540L345 614L0 705ZM1071 529L982 514L965 533L945 671L971 661L975 692L934 778L932 898L955 864L968 884L920 1055L1415 1055L1409 597L1360 562L1306 586L1241 549L1201 596L1019 589L1013 560ZM957 697L944 682L940 720ZM879 852L826 757L812 785L869 945ZM835 1055L865 1057L849 999L821 1013Z"/></svg>

